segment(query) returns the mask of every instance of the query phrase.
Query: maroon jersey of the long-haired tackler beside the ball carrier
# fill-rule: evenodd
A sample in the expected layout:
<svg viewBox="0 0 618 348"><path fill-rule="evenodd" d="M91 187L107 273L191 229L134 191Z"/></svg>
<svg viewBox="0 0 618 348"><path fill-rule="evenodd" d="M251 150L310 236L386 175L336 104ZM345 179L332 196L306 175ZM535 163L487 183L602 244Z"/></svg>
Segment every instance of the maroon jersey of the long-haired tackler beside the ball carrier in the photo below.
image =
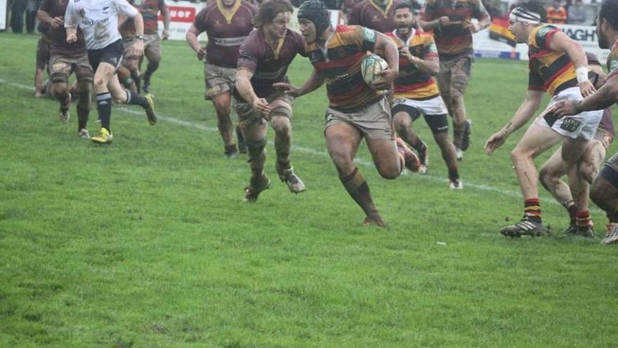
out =
<svg viewBox="0 0 618 348"><path fill-rule="evenodd" d="M288 82L287 67L292 63L296 53L305 54L305 38L303 35L287 30L285 37L280 39L277 47L266 43L261 30L254 30L240 46L237 69L246 69L254 73L251 77L256 95L260 98L270 96L275 92L272 86L275 82ZM242 100L235 91L235 96Z"/></svg>

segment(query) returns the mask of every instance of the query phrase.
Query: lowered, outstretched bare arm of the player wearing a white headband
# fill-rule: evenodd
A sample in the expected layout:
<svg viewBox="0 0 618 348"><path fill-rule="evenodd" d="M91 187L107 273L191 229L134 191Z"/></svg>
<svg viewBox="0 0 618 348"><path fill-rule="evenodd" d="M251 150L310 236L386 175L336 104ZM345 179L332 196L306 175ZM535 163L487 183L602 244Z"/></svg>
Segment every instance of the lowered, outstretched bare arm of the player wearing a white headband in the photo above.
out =
<svg viewBox="0 0 618 348"><path fill-rule="evenodd" d="M526 124L528 120L530 120L530 117L534 115L534 112L539 110L539 105L541 105L544 94L544 91L529 90L527 92L525 100L517 111L515 111L515 115L513 115L511 121L487 139L487 142L485 143L485 152L487 155L491 155L494 150L504 144L508 136L513 134L514 131L518 130Z"/></svg>

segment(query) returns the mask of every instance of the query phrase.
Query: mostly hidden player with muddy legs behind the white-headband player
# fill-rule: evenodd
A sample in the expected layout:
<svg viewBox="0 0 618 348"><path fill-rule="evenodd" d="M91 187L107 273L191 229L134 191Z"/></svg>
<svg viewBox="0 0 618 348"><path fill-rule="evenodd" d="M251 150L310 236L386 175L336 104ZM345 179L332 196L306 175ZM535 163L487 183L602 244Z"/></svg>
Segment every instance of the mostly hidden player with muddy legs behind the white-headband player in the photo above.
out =
<svg viewBox="0 0 618 348"><path fill-rule="evenodd" d="M601 67L598 58L594 53L586 52L586 58L588 59L588 65L590 70L595 73L593 75L593 84L595 88L600 88L605 83L605 72ZM601 119L594 138L589 141L584 154L581 155L581 162L579 163L579 175L588 183L592 183L593 179L598 174L600 165L605 158L605 152L607 146L610 146L614 140L614 122L612 121L612 112L609 108L603 110L603 118ZM549 160L545 162L541 170L539 171L539 181L541 185L551 192L553 198L558 200L560 204L565 207L570 217L570 224L565 228L563 233L567 235L593 237L593 223L590 219L590 213L588 210L581 211L573 200L571 190L569 186L560 178L565 175L563 161L562 161L562 148L555 150L555 153L551 155ZM582 192L581 194L585 194ZM585 202L588 198L578 198L578 201Z"/></svg>

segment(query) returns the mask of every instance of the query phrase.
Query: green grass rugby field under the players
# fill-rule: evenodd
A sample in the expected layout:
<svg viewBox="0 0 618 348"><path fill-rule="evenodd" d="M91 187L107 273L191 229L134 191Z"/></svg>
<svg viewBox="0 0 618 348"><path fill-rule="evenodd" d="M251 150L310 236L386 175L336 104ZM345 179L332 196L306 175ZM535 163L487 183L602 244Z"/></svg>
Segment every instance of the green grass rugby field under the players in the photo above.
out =
<svg viewBox="0 0 618 348"><path fill-rule="evenodd" d="M616 347L616 247L498 233L522 213L508 158L522 131L492 157L482 144L525 95L525 63L475 63L463 191L422 120L426 176L381 179L362 148L388 222L374 228L324 151L323 89L294 105L307 192L273 180L247 205L249 168L223 157L186 44L164 42L156 127L115 107L100 147L77 138L74 107L61 124L56 101L32 97L36 42L0 34L0 347ZM289 75L309 72L297 58ZM276 179L272 139L268 153ZM567 214L541 197L560 231Z"/></svg>

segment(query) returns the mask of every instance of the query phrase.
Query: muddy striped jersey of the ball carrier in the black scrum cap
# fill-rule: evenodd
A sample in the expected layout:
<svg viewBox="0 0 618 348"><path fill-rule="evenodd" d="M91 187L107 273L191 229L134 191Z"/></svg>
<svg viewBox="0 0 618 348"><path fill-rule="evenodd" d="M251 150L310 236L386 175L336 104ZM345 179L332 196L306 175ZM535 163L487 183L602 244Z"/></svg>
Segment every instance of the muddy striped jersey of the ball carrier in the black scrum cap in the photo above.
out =
<svg viewBox="0 0 618 348"><path fill-rule="evenodd" d="M329 106L341 112L356 112L382 98L362 79L360 62L374 51L376 32L358 25L337 25L325 47L315 42L305 51L315 70L324 77Z"/></svg>

